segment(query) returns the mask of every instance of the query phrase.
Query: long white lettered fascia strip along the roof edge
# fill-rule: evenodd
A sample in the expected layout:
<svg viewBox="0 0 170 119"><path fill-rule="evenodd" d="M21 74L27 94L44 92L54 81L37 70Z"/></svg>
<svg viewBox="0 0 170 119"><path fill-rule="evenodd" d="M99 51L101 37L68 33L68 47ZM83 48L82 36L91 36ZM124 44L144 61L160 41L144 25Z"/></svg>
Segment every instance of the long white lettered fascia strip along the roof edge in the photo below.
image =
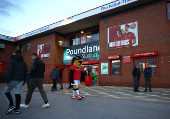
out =
<svg viewBox="0 0 170 119"><path fill-rule="evenodd" d="M29 36L32 36L32 35L35 35L35 34L38 34L38 33L42 33L44 31L47 31L47 30L50 30L50 29L53 29L53 28L56 28L56 27L67 25L67 24L70 24L72 22L78 21L80 19L84 19L86 17L90 17L90 16L93 16L93 15L96 15L96 14L99 14L99 13L102 13L102 12L105 12L105 11L108 11L108 10L111 10L111 9L115 9L117 7L129 4L129 3L132 3L132 2L136 2L136 1L138 1L138 0L116 0L116 1L113 1L109 4L102 5L100 7L89 10L87 12L83 12L82 14L78 14L78 15L69 17L67 20L61 20L61 21L56 22L54 24L51 24L51 25L45 26L43 28L37 29L35 31L23 34L21 36L16 37L15 40L16 41L21 40L23 38L26 38L26 37L29 37Z"/></svg>

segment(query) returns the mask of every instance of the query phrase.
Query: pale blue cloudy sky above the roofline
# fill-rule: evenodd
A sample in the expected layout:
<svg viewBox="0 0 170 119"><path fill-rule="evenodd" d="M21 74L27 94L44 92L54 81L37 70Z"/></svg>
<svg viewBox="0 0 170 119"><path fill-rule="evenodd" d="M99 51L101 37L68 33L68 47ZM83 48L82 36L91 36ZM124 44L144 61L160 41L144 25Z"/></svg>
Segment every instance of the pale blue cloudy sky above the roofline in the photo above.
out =
<svg viewBox="0 0 170 119"><path fill-rule="evenodd" d="M16 37L115 0L0 0L0 34Z"/></svg>

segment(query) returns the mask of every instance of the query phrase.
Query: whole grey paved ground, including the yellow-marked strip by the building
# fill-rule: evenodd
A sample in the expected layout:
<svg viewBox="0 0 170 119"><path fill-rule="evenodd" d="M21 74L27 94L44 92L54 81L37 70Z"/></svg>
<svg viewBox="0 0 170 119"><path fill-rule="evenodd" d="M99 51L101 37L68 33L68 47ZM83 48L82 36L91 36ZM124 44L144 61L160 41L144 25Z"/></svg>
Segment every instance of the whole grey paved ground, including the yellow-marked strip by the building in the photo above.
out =
<svg viewBox="0 0 170 119"><path fill-rule="evenodd" d="M70 99L72 89L64 84L61 90L51 91L51 84L44 84L50 107L42 108L43 100L38 89L33 93L28 109L21 114L6 115L7 101L3 96L5 84L0 84L0 119L169 119L170 89L153 88L153 92L133 92L132 87L84 86L82 100ZM25 100L27 88L21 92ZM11 92L14 98L14 90ZM15 99L15 98L14 98Z"/></svg>

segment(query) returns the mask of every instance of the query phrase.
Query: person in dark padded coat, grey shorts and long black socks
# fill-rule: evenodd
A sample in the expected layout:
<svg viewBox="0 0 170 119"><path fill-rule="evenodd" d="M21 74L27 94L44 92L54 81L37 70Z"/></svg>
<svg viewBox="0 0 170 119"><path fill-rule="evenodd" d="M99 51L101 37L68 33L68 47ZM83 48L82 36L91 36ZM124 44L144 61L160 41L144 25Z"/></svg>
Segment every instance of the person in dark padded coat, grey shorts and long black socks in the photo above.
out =
<svg viewBox="0 0 170 119"><path fill-rule="evenodd" d="M19 114L19 106L21 102L21 90L22 85L25 84L25 80L27 77L27 66L26 63L23 61L23 56L21 55L20 50L15 50L13 55L11 56L11 60L8 62L7 65L7 72L6 72L6 86L4 90L4 95L9 103L9 108L6 114L15 113ZM10 94L12 89L15 89L15 103L14 106L12 96Z"/></svg>

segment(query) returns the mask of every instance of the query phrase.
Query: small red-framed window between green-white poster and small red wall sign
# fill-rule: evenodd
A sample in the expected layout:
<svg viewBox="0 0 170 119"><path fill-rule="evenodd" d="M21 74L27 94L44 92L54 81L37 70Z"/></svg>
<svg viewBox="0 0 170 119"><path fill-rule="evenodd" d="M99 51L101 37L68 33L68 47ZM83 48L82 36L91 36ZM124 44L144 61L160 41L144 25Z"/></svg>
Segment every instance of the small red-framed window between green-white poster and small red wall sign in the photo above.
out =
<svg viewBox="0 0 170 119"><path fill-rule="evenodd" d="M120 60L111 61L111 74L120 75Z"/></svg>

